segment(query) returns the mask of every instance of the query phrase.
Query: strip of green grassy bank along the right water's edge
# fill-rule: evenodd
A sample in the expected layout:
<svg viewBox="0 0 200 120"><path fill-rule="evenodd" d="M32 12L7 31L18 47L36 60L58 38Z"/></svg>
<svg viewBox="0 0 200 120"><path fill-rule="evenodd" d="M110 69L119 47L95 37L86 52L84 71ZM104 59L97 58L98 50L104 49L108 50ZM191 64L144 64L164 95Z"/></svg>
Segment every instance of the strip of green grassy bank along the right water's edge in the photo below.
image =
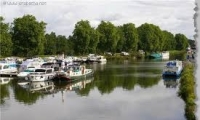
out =
<svg viewBox="0 0 200 120"><path fill-rule="evenodd" d="M194 65L186 63L181 80L178 95L185 102L185 117L187 120L196 120L195 117L195 77L194 77Z"/></svg>

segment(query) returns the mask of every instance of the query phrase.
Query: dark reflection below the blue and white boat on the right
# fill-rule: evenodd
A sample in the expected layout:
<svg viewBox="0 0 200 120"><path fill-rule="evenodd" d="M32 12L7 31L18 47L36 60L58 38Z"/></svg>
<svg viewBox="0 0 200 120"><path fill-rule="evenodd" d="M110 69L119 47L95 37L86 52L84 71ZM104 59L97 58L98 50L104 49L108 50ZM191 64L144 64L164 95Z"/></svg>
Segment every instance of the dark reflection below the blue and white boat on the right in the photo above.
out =
<svg viewBox="0 0 200 120"><path fill-rule="evenodd" d="M166 88L177 88L180 77L163 77Z"/></svg>

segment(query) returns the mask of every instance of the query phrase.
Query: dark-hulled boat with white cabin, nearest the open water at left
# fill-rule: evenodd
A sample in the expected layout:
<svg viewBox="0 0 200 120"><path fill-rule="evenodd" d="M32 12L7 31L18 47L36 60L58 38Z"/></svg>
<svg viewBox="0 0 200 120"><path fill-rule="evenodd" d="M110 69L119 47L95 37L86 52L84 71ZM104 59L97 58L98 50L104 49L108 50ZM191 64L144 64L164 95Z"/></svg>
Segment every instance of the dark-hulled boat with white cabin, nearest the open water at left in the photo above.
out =
<svg viewBox="0 0 200 120"><path fill-rule="evenodd" d="M77 79L80 77L88 76L93 73L92 69L87 69L85 65L78 65L73 64L67 66L64 71L58 71L57 72L57 78L62 78L65 80L72 80Z"/></svg>

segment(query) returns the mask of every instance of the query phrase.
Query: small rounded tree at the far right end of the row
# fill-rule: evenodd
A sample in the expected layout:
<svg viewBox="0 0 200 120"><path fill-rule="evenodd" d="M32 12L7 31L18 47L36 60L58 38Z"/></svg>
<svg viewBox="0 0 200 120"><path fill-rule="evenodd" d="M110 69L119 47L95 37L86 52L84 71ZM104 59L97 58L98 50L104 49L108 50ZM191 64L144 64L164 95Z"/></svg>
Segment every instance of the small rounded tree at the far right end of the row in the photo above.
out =
<svg viewBox="0 0 200 120"><path fill-rule="evenodd" d="M176 40L176 50L185 50L189 45L187 37L183 34L180 33L176 34L175 40Z"/></svg>

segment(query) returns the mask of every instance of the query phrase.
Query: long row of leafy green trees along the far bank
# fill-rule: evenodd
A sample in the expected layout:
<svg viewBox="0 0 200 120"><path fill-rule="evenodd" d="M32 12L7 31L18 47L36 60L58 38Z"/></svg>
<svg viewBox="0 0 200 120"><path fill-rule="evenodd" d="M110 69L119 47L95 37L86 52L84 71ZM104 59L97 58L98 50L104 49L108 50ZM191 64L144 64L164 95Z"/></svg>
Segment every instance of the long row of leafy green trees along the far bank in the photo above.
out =
<svg viewBox="0 0 200 120"><path fill-rule="evenodd" d="M184 34L174 35L149 23L136 27L133 23L115 26L109 21L101 21L94 28L88 20L80 20L68 37L46 33L47 23L38 21L33 15L15 18L12 24L5 23L0 16L0 24L1 56L85 55L140 49L156 52L185 50L189 45Z"/></svg>

